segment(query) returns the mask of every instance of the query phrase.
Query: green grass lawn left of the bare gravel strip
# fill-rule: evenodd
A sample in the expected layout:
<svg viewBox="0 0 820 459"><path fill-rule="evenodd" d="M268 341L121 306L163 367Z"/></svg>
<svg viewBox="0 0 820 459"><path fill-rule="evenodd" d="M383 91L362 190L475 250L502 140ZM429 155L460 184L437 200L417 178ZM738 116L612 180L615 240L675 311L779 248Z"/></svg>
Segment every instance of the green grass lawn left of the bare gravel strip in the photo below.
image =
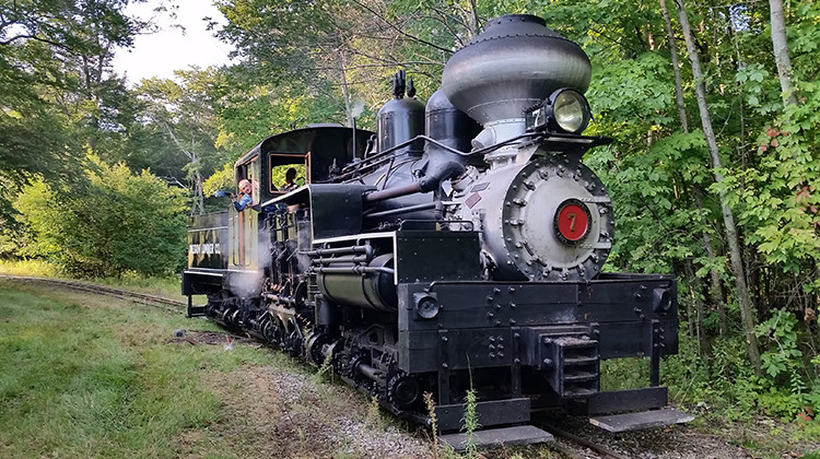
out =
<svg viewBox="0 0 820 459"><path fill-rule="evenodd" d="M212 326L159 308L2 281L0 297L3 457L176 457L180 434L220 416L201 369L270 364L250 348L169 342Z"/></svg>

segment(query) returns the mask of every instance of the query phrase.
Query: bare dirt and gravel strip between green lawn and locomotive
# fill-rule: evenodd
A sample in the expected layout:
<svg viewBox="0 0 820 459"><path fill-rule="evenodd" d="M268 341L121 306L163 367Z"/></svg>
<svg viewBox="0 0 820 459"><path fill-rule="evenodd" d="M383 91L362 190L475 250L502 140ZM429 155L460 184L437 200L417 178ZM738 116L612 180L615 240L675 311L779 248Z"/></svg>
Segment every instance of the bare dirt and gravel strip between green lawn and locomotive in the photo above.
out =
<svg viewBox="0 0 820 459"><path fill-rule="evenodd" d="M197 343L224 345L219 333L188 333ZM175 339L184 344L185 339ZM233 340L234 345L256 345ZM274 351L271 351L274 352ZM307 368L306 369L312 369ZM318 376L271 366L244 366L222 373L209 370L208 390L222 400L224 413L208 428L232 445L234 457L259 458L426 458L431 443L398 425L347 386ZM197 432L197 431L192 431ZM421 434L421 431L418 431ZM208 450L208 438L186 433L178 438L180 457Z"/></svg>

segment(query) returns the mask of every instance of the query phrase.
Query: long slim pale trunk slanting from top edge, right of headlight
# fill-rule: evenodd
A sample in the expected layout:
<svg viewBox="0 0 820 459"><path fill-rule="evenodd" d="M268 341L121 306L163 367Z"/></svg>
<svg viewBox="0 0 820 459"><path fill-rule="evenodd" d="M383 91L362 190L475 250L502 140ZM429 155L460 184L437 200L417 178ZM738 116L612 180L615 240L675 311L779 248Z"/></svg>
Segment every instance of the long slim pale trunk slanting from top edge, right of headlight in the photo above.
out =
<svg viewBox="0 0 820 459"><path fill-rule="evenodd" d="M712 158L712 168L715 170L713 173L715 183L721 183L723 181L723 175L717 173L717 170L721 169L723 165L721 161L721 152L717 149L715 131L712 128L712 118L710 117L708 106L706 105L706 89L703 86L704 75L701 71L700 57L698 56L698 49L695 48L692 31L689 26L689 17L687 16L683 0L675 0L675 8L678 10L680 26L683 30L683 38L687 43L687 50L689 51L689 60L692 63L692 76L695 81L698 108L701 114L703 136L706 139L708 154ZM721 211L723 213L723 221L726 229L726 243L729 247L729 258L731 260L731 272L735 276L735 284L738 295L738 306L740 307L740 318L743 325L743 334L746 336L746 350L749 354L749 362L754 368L754 373L762 376L763 370L760 362L758 337L754 334L754 311L751 297L749 295L749 289L746 284L746 272L743 270L740 243L738 242L737 226L735 225L735 214L733 213L731 208L729 208L729 204L727 202L726 191L718 191L717 196L721 201Z"/></svg>

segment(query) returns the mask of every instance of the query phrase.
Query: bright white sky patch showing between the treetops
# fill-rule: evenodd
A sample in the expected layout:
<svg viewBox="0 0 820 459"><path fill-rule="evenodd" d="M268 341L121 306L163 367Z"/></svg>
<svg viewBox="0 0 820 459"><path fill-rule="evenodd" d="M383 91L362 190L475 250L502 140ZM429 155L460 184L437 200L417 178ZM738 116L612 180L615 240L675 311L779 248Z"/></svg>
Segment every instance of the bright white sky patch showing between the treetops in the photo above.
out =
<svg viewBox="0 0 820 459"><path fill-rule="evenodd" d="M149 0L147 3L132 3L126 10L129 14L143 20L154 16L153 9L160 0ZM213 37L207 31L207 22L202 17L209 16L215 21L225 22L222 13L209 0L176 0L176 19L162 13L155 20L161 31L150 35L140 35L134 39L134 47L117 50L114 58L114 70L118 74L127 74L130 85L138 84L143 78L173 78L174 70L188 69L189 66L218 66L229 63L227 55L232 47ZM185 33L172 27L179 24ZM130 52L129 52L130 51Z"/></svg>

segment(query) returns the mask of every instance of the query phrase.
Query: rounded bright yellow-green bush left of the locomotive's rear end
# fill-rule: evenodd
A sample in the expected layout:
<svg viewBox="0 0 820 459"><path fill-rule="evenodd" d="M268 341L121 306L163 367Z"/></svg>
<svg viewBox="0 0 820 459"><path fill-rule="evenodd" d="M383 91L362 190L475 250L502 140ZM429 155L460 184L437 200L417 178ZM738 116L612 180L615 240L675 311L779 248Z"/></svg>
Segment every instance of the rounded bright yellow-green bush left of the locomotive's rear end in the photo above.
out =
<svg viewBox="0 0 820 459"><path fill-rule="evenodd" d="M69 191L34 184L20 196L20 219L32 233L24 251L81 276L174 272L185 252L185 198L149 172L90 157L91 184Z"/></svg>

